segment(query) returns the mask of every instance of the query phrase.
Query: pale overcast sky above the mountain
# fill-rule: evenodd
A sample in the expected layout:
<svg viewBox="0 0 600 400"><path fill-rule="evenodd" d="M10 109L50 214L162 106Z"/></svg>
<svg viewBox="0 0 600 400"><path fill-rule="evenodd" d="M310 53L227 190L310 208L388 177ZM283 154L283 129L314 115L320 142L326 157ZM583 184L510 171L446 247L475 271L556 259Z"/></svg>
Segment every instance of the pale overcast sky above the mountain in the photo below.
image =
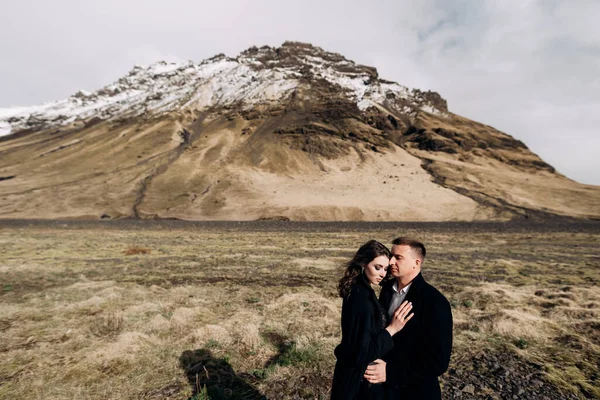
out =
<svg viewBox="0 0 600 400"><path fill-rule="evenodd" d="M8 0L0 107L93 91L135 64L310 42L439 92L600 185L598 0Z"/></svg>

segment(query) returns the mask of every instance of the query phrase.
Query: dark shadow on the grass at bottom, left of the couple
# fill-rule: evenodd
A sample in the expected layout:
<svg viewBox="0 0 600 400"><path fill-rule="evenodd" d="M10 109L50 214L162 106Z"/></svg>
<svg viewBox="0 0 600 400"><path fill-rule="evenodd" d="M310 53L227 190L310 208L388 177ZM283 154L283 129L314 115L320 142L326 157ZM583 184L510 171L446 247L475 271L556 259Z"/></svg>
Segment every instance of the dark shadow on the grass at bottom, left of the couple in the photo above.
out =
<svg viewBox="0 0 600 400"><path fill-rule="evenodd" d="M265 396L237 375L227 360L206 349L186 350L179 357L194 395L193 400L263 400Z"/></svg>

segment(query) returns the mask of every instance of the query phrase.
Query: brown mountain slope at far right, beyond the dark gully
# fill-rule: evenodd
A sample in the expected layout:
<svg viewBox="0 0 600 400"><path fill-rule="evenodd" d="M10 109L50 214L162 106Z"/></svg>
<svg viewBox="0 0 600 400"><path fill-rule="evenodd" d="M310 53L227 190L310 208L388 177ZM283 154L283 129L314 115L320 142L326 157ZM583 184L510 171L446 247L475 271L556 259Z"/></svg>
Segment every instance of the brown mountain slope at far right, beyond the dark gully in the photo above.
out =
<svg viewBox="0 0 600 400"><path fill-rule="evenodd" d="M557 173L520 141L457 115L422 113L406 136L408 151L424 160L435 181L497 209L525 217L598 218L600 188ZM413 129L414 130L414 129ZM419 136L440 141L427 151ZM435 147L435 145L433 146Z"/></svg>

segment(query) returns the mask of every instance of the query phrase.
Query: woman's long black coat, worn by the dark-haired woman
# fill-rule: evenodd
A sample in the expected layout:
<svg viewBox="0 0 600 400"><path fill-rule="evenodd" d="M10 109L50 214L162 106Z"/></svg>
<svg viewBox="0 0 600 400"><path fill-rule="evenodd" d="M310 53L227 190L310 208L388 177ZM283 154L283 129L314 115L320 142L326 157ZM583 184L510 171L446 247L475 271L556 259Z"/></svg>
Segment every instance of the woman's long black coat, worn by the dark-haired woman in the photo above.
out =
<svg viewBox="0 0 600 400"><path fill-rule="evenodd" d="M385 330L386 313L363 275L342 304L342 342L335 349L337 362L331 388L332 400L383 397L381 385L370 387L363 379L369 362L383 358L394 347ZM378 389L378 390L377 390Z"/></svg>

